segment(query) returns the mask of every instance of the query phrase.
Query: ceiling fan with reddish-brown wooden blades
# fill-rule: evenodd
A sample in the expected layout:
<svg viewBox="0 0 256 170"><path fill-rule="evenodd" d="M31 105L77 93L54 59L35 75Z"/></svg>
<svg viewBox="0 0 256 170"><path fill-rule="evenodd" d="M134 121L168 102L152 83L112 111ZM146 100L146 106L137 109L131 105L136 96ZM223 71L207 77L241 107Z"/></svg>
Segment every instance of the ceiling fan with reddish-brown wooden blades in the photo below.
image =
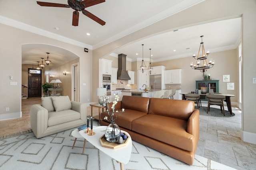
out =
<svg viewBox="0 0 256 170"><path fill-rule="evenodd" d="M96 17L92 13L85 10L85 8L100 4L102 2L105 2L105 0L68 0L68 5L56 4L56 3L50 3L50 2L40 2L40 1L36 1L36 2L40 6L72 8L73 10L75 10L73 12L73 20L72 20L73 26L78 26L79 11L82 11L82 14L98 22L100 25L105 25L106 23L105 21L101 20L100 18Z"/></svg>

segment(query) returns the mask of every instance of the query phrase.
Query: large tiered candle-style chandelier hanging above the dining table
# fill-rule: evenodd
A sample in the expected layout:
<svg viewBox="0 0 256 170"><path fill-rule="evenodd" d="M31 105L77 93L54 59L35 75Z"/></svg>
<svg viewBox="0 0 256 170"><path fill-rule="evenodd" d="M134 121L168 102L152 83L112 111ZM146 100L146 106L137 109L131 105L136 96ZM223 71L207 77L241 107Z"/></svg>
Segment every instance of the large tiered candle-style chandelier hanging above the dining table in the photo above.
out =
<svg viewBox="0 0 256 170"><path fill-rule="evenodd" d="M201 72L206 72L207 69L212 68L214 66L214 60L210 59L209 62L207 62L207 57L210 54L209 51L205 53L204 50L204 42L203 42L203 37L204 35L200 36L202 38L202 42L200 43L200 47L198 50L197 56L194 54L193 57L196 59L196 64L193 65L193 62L190 63L190 67L194 70L200 70ZM202 48L202 56L200 56L200 49Z"/></svg>

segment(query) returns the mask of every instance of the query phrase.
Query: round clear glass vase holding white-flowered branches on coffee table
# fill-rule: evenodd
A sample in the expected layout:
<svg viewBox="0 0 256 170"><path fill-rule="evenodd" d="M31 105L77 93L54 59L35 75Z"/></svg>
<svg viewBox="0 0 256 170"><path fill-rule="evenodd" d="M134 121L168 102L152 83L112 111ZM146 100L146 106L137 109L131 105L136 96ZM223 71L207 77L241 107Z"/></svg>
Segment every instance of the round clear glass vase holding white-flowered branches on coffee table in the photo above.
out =
<svg viewBox="0 0 256 170"><path fill-rule="evenodd" d="M110 123L110 125L108 125L106 129L105 137L108 142L111 142L111 143L116 142L120 137L119 126L116 123Z"/></svg>

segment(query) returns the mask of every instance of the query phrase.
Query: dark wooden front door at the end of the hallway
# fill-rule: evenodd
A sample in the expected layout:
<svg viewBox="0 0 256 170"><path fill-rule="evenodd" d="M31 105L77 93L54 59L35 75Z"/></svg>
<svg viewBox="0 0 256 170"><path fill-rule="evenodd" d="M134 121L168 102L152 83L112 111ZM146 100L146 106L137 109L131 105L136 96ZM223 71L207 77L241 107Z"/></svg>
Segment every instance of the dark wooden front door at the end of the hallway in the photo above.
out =
<svg viewBox="0 0 256 170"><path fill-rule="evenodd" d="M31 69L31 68L30 68ZM41 97L42 96L42 74L28 72L28 97Z"/></svg>

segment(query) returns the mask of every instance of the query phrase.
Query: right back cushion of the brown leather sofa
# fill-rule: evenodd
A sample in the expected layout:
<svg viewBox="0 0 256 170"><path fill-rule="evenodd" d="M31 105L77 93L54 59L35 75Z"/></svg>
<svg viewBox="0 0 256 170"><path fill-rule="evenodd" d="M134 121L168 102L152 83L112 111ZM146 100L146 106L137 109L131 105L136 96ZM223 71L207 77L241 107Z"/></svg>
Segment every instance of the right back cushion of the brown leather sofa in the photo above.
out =
<svg viewBox="0 0 256 170"><path fill-rule="evenodd" d="M187 121L194 111L194 102L150 98L148 114L162 115Z"/></svg>

